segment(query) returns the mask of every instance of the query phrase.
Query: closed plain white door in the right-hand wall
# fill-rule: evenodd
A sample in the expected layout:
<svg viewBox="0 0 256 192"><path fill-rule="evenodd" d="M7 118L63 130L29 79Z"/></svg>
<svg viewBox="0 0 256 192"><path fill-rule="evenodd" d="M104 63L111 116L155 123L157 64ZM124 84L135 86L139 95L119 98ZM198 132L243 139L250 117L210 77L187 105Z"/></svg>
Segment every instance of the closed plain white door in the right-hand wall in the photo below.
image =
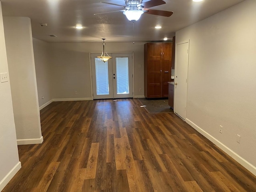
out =
<svg viewBox="0 0 256 192"><path fill-rule="evenodd" d="M186 120L189 42L176 44L174 112Z"/></svg>

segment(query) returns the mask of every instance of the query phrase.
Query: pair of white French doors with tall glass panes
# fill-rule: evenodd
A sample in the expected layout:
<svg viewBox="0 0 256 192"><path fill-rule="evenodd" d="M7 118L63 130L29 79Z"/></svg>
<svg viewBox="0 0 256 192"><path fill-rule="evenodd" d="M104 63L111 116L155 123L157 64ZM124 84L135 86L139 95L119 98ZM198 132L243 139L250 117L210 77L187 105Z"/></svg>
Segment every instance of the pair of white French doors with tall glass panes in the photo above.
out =
<svg viewBox="0 0 256 192"><path fill-rule="evenodd" d="M93 98L132 98L132 53L109 55L112 59L104 63L91 54Z"/></svg>

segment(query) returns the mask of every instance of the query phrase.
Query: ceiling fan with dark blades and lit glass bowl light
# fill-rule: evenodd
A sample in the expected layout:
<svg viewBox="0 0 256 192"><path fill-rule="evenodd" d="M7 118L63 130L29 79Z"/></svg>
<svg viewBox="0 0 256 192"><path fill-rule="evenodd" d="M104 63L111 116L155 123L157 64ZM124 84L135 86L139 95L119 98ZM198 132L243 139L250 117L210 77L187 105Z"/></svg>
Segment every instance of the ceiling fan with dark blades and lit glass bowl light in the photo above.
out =
<svg viewBox="0 0 256 192"><path fill-rule="evenodd" d="M134 22L140 19L140 16L143 13L146 14L152 14L152 15L158 15L158 16L164 16L164 17L170 17L173 12L172 11L163 11L163 10L155 10L155 9L148 9L154 6L166 4L163 0L149 0L147 2L142 2L143 0L124 0L126 6L118 5L110 2L101 2L105 4L115 5L115 6L121 6L124 9L118 10L118 11L110 11L110 12L104 12L104 13L96 13L94 15L98 14L105 14L105 13L112 13L112 12L123 12L123 14L127 17L128 20Z"/></svg>

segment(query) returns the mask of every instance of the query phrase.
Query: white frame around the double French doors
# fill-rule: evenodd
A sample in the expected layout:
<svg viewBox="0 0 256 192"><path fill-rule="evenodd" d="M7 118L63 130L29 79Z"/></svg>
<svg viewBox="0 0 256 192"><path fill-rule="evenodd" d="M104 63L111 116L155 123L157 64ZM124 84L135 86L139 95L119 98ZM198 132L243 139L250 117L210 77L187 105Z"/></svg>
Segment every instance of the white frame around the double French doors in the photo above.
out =
<svg viewBox="0 0 256 192"><path fill-rule="evenodd" d="M132 54L132 98L134 98L134 52L108 52L108 54ZM90 83L91 83L91 98L93 99L93 87L92 87L92 61L91 54L102 54L102 52L89 52L89 65L90 65ZM112 59L112 58L111 58Z"/></svg>

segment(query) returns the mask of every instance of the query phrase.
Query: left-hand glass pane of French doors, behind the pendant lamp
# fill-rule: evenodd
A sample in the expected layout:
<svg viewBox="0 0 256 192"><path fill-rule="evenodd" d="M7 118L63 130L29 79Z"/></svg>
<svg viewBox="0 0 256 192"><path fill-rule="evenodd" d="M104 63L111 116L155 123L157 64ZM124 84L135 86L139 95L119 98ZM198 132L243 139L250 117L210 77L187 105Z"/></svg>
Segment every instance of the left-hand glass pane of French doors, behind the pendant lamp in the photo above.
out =
<svg viewBox="0 0 256 192"><path fill-rule="evenodd" d="M100 58L95 58L95 70L97 95L108 95L108 62L104 63Z"/></svg>

